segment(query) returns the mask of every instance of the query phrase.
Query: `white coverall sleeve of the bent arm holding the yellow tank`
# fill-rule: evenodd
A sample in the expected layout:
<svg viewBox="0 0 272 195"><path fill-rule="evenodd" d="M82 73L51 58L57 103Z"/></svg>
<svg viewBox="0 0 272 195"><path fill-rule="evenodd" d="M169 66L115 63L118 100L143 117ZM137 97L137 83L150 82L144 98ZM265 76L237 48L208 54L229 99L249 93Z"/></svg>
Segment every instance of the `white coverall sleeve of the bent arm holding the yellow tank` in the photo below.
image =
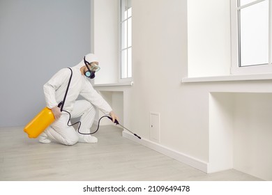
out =
<svg viewBox="0 0 272 195"><path fill-rule="evenodd" d="M45 102L49 109L56 107L58 102L56 102L56 90L61 86L69 76L68 68L63 68L56 72L56 74L47 81L43 86L43 93L45 94Z"/></svg>

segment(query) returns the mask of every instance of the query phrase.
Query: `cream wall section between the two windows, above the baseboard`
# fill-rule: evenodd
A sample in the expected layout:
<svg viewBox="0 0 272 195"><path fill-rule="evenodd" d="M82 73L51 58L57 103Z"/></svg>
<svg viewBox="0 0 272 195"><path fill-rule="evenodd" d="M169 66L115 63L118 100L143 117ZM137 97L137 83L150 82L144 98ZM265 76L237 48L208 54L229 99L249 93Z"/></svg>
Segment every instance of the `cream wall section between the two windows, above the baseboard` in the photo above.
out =
<svg viewBox="0 0 272 195"><path fill-rule="evenodd" d="M181 84L187 75L186 9L180 0L133 1L134 85L125 115L127 125L149 139L149 113L160 113L160 144L208 161L208 105L198 101L201 89Z"/></svg>

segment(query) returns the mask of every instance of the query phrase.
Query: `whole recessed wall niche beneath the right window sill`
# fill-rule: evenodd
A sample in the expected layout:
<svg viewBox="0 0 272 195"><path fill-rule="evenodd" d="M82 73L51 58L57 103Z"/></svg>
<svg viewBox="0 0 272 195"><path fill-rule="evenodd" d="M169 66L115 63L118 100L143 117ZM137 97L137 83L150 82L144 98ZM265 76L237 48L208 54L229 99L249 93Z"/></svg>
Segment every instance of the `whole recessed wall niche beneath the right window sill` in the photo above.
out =
<svg viewBox="0 0 272 195"><path fill-rule="evenodd" d="M272 180L272 93L211 93L208 172L237 169Z"/></svg>

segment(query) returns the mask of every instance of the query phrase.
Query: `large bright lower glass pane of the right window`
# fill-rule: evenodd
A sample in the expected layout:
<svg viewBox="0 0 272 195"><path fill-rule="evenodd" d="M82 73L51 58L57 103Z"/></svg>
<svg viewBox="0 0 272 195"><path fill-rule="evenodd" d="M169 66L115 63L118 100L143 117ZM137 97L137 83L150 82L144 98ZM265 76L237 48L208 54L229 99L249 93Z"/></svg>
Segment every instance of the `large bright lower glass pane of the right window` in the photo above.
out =
<svg viewBox="0 0 272 195"><path fill-rule="evenodd" d="M269 63L269 1L240 10L239 65Z"/></svg>

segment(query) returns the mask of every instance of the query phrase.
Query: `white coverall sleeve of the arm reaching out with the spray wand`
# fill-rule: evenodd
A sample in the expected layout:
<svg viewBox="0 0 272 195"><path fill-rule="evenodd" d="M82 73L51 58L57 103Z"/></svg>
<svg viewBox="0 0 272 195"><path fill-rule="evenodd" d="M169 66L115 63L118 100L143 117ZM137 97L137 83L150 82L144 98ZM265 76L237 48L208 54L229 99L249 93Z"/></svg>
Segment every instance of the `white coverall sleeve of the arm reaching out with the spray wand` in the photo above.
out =
<svg viewBox="0 0 272 195"><path fill-rule="evenodd" d="M102 96L96 90L94 90L89 81L85 82L80 95L100 109L100 111L103 111L104 114L108 115L109 112L112 111L112 107L110 107Z"/></svg>

